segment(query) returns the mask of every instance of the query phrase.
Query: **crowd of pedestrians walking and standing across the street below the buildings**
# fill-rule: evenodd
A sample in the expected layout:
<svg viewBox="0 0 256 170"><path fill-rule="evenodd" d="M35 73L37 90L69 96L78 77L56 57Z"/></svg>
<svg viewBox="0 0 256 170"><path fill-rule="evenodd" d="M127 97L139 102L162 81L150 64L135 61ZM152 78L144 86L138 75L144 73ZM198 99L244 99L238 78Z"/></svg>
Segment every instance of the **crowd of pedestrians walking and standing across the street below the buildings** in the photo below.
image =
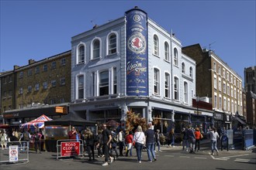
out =
<svg viewBox="0 0 256 170"><path fill-rule="evenodd" d="M88 152L88 161L94 161L96 157L95 149L97 151L98 158L104 158L102 166L106 166L114 162L117 158L125 156L132 157L133 148L136 150L137 162L141 163L142 151L147 151L147 161L157 161L156 152L161 152L161 147L164 144L161 141L163 134L159 129L154 130L152 123L147 124L147 130L143 130L140 125L133 131L124 131L123 128L109 128L106 124L102 124L102 128L97 131L97 134L93 133L90 128L86 128L84 131L78 131L78 129L72 127L68 133L68 137L71 140L83 141L84 151ZM211 154L219 155L217 149L217 140L220 138L220 134L216 131L216 128L212 128L210 131L211 140ZM167 147L175 147L175 129L171 128L168 137ZM200 151L200 141L202 141L202 133L199 128L193 129L191 126L182 128L181 132L182 150L188 151L191 154L195 154L195 151ZM29 143L34 144L35 152L41 153L41 144L43 140L42 132L36 131L12 131L12 134L7 134L5 131L0 132L0 147L8 148L8 141L23 141L20 143L21 150L25 151L29 148ZM119 151L118 151L119 149Z"/></svg>

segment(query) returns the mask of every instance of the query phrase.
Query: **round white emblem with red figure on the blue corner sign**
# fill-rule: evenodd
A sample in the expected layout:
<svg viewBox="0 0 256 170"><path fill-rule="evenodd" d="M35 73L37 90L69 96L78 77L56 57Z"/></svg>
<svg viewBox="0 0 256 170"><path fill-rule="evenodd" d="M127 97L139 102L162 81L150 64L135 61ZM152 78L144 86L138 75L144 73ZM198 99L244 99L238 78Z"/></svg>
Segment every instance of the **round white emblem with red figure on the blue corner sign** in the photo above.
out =
<svg viewBox="0 0 256 170"><path fill-rule="evenodd" d="M134 53L143 53L146 49L146 39L140 33L134 34L128 40L128 48Z"/></svg>

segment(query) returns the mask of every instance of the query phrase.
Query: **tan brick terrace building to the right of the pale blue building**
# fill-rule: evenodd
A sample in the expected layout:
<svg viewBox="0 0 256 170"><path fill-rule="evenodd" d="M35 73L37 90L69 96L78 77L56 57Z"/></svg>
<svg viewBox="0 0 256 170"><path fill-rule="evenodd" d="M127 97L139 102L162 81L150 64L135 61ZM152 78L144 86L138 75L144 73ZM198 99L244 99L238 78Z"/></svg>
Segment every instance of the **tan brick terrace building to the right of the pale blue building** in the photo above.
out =
<svg viewBox="0 0 256 170"><path fill-rule="evenodd" d="M216 127L232 128L232 116L243 114L242 78L216 53L199 44L183 47L182 53L195 59L196 95L211 98Z"/></svg>

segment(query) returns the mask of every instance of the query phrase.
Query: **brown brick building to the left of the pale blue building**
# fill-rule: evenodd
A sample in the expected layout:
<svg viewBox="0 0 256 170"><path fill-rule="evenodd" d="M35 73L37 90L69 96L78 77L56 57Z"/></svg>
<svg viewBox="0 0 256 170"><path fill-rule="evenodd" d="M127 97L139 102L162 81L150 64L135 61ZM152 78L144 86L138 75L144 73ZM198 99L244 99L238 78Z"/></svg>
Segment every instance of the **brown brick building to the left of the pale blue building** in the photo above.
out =
<svg viewBox="0 0 256 170"><path fill-rule="evenodd" d="M1 114L5 123L31 121L41 114L60 117L55 106L71 101L71 50L26 66L14 66L1 78Z"/></svg>

